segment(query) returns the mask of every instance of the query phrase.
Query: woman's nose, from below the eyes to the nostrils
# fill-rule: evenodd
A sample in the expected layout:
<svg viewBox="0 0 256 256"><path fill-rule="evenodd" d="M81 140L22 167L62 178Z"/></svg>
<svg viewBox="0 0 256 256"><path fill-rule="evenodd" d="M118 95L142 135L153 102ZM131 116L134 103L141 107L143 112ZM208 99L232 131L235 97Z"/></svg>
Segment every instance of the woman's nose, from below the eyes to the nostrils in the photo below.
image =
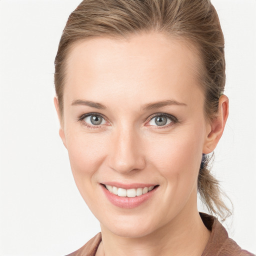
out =
<svg viewBox="0 0 256 256"><path fill-rule="evenodd" d="M131 129L116 131L109 146L109 166L120 173L141 170L145 166L142 140Z"/></svg>

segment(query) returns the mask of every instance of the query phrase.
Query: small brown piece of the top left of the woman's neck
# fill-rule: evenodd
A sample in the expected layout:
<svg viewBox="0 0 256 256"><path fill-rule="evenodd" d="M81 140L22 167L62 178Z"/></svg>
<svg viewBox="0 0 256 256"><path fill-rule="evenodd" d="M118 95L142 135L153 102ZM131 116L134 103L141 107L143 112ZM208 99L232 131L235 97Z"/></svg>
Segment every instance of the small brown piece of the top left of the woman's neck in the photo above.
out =
<svg viewBox="0 0 256 256"><path fill-rule="evenodd" d="M101 233L97 233L89 241L87 241L80 249L66 255L66 256L94 256L98 245L101 241Z"/></svg>

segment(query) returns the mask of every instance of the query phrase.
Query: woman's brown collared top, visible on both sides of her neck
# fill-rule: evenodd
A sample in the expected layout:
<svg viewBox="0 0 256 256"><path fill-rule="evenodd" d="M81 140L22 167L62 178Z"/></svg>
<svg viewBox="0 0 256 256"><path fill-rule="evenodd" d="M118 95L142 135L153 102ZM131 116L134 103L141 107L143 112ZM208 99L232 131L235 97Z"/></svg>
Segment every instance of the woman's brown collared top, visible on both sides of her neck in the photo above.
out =
<svg viewBox="0 0 256 256"><path fill-rule="evenodd" d="M200 216L204 225L211 230L210 238L201 256L253 256L228 237L225 228L215 217L201 212ZM97 233L80 249L66 256L95 256L100 241L101 233Z"/></svg>

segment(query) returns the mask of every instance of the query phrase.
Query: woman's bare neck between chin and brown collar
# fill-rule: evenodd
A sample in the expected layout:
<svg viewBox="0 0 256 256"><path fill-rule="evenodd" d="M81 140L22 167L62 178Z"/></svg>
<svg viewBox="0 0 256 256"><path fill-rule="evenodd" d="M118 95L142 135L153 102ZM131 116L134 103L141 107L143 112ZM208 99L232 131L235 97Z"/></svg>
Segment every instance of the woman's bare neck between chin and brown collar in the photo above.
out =
<svg viewBox="0 0 256 256"><path fill-rule="evenodd" d="M166 225L142 237L122 237L101 225L102 242L96 255L105 256L200 256L210 231L197 208L183 209Z"/></svg>

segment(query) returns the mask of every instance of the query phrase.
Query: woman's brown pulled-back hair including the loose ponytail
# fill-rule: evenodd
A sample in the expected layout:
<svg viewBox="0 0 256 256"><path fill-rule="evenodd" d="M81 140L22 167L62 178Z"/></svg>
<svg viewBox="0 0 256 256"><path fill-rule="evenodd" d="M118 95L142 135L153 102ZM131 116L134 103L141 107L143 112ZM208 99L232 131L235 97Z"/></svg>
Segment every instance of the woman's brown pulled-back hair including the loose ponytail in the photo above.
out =
<svg viewBox="0 0 256 256"><path fill-rule="evenodd" d="M196 47L201 58L200 80L204 112L213 119L225 84L224 38L210 0L83 0L70 14L55 58L55 90L63 112L65 61L70 47L93 36L127 37L158 31L184 39ZM210 174L207 160L201 164L198 192L211 213L224 219L230 210L221 199L218 181Z"/></svg>

